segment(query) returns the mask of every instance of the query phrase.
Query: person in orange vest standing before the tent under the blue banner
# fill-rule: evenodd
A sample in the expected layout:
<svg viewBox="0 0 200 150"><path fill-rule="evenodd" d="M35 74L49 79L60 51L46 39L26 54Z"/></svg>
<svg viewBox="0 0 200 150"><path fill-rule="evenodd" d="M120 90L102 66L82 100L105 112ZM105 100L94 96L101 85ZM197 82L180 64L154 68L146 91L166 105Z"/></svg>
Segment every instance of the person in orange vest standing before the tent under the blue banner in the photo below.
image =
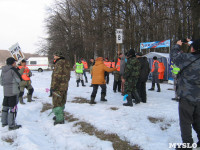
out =
<svg viewBox="0 0 200 150"><path fill-rule="evenodd" d="M158 90L157 92L160 92L160 81L158 79L158 76L159 76L159 72L160 72L160 62L157 60L157 57L154 56L153 57L153 65L152 65L152 69L151 69L151 72L152 72L152 87L149 89L149 91L154 91L155 89L155 84L157 84L157 87L158 87Z"/></svg>

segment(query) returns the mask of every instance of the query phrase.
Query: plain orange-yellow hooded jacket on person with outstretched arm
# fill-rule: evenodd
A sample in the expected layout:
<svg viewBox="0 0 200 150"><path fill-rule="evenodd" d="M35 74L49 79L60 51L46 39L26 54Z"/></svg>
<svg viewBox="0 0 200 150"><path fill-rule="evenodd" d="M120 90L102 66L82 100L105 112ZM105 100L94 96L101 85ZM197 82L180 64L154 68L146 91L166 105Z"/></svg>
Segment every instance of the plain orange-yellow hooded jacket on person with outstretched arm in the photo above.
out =
<svg viewBox="0 0 200 150"><path fill-rule="evenodd" d="M92 84L106 84L105 81L105 71L106 72L112 72L116 71L116 68L108 68L106 65L103 63L103 58L98 57L96 59L95 65L92 68Z"/></svg>

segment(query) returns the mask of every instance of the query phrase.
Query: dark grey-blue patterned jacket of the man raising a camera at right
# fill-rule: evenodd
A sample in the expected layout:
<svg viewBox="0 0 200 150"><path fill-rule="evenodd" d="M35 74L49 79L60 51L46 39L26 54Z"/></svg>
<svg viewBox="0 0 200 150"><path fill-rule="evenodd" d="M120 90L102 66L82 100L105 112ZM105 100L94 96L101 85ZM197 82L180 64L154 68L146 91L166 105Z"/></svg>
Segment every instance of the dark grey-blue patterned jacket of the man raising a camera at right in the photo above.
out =
<svg viewBox="0 0 200 150"><path fill-rule="evenodd" d="M173 46L170 58L181 70L200 57L200 53L182 53L179 45ZM181 99L200 101L200 59L187 67L178 77L177 94Z"/></svg>

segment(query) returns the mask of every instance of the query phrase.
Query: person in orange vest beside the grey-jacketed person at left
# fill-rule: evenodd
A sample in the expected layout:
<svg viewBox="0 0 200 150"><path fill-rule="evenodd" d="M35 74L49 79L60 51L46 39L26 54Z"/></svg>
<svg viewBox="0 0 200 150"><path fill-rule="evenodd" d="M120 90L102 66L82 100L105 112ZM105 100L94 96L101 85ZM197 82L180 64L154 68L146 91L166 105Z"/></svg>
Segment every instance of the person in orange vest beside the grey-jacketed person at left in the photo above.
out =
<svg viewBox="0 0 200 150"><path fill-rule="evenodd" d="M32 72L30 69L26 66L26 60L21 61L21 66L18 67L19 73L21 74L22 81L20 82L20 93L19 93L19 102L21 104L25 104L23 101L23 95L24 95L24 89L26 88L28 90L27 99L28 102L32 102L32 95L33 95L33 87L31 85L31 79Z"/></svg>

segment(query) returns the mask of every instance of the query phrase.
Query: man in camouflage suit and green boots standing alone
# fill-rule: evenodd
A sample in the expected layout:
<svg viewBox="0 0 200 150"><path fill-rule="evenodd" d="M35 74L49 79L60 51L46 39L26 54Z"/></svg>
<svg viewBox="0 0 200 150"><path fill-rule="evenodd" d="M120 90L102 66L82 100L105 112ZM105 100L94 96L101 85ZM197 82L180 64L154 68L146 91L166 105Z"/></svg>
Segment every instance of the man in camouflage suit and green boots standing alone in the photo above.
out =
<svg viewBox="0 0 200 150"><path fill-rule="evenodd" d="M51 89L53 94L54 125L64 124L64 108L67 99L68 82L70 80L70 65L62 52L54 53L54 70L51 79Z"/></svg>

